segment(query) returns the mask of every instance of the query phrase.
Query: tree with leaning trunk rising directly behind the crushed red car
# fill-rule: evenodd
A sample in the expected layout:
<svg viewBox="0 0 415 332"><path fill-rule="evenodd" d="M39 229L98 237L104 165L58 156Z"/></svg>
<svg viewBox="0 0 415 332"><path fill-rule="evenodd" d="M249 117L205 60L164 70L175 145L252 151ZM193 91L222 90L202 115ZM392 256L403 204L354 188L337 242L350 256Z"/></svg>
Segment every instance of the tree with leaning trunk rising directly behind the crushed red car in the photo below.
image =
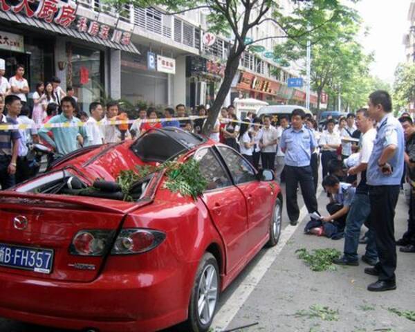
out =
<svg viewBox="0 0 415 332"><path fill-rule="evenodd" d="M231 36L231 46L226 59L225 75L216 94L203 133L210 133L219 111L230 91L232 80L237 73L239 59L248 46L265 39L300 39L312 36L317 30L344 25L355 12L344 6L341 0L291 0L295 3L292 15L284 16L275 0L107 0L118 8L132 4L141 8L163 8L167 14L178 14L189 10L203 9L209 12L208 24L212 33ZM356 1L356 0L351 0ZM273 21L284 31L283 35L267 36L248 42L251 30L261 28L266 21Z"/></svg>

